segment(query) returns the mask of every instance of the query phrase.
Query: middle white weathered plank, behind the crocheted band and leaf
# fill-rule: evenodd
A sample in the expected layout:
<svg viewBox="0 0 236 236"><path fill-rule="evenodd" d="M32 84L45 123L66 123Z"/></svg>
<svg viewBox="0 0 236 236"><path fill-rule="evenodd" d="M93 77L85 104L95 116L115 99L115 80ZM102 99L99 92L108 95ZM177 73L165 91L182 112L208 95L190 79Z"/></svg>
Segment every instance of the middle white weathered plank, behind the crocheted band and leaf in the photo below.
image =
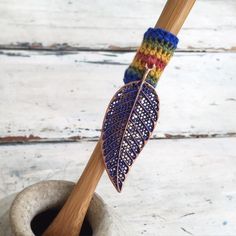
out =
<svg viewBox="0 0 236 236"><path fill-rule="evenodd" d="M134 53L3 51L0 141L97 139ZM154 138L236 133L236 54L176 53L157 86ZM41 140L42 141L42 140Z"/></svg>

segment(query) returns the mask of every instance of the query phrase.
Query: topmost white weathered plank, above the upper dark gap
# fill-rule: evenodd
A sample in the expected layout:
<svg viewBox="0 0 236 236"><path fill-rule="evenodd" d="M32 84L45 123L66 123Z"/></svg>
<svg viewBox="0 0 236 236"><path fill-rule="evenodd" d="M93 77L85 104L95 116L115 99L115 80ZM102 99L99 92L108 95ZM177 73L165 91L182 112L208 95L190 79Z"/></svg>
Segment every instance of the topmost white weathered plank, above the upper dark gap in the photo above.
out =
<svg viewBox="0 0 236 236"><path fill-rule="evenodd" d="M109 49L137 47L164 0L1 0L0 47ZM198 0L181 30L180 50L236 49L236 1Z"/></svg>

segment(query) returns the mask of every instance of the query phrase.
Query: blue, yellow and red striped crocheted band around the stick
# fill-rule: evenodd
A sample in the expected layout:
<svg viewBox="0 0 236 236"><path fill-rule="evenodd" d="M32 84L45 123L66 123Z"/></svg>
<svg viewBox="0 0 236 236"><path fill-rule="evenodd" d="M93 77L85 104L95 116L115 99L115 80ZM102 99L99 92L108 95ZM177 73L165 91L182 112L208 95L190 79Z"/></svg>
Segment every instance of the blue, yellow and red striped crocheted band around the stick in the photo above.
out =
<svg viewBox="0 0 236 236"><path fill-rule="evenodd" d="M144 34L143 42L133 62L125 71L125 84L142 79L146 70L145 65L152 67L155 64L156 68L149 73L146 81L156 87L161 73L177 47L178 41L178 38L170 32L159 28L149 28Z"/></svg>

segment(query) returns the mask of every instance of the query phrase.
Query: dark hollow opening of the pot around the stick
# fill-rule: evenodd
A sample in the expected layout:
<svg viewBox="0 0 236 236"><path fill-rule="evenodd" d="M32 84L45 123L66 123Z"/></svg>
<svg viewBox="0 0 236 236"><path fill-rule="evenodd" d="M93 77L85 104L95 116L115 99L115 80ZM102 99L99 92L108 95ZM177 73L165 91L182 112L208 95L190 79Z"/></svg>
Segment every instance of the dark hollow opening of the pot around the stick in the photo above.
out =
<svg viewBox="0 0 236 236"><path fill-rule="evenodd" d="M53 219L57 216L60 209L52 208L36 215L31 221L31 229L36 236L42 236L43 232L48 228ZM92 236L92 227L85 217L80 234L78 236Z"/></svg>

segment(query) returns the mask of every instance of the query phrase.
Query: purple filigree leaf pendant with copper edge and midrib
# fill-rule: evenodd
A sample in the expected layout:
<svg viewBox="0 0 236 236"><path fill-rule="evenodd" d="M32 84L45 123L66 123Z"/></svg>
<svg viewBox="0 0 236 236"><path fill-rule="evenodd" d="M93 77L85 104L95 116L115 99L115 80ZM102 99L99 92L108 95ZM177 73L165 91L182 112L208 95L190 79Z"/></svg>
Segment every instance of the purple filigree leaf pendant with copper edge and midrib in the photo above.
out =
<svg viewBox="0 0 236 236"><path fill-rule="evenodd" d="M108 106L102 151L107 173L118 192L155 127L158 110L156 91L145 81L124 85Z"/></svg>

